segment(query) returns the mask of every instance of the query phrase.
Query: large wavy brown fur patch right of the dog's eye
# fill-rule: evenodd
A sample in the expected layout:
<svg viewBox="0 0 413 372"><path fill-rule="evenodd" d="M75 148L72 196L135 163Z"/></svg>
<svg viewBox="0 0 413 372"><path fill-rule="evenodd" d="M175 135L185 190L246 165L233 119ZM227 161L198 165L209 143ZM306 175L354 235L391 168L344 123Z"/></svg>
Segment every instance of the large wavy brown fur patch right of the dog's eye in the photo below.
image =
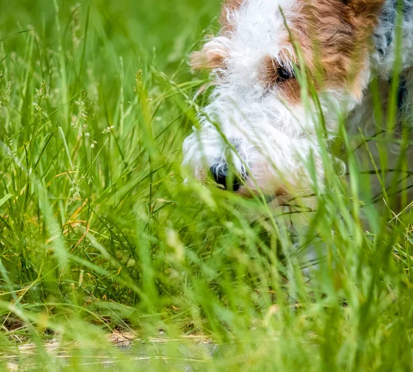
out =
<svg viewBox="0 0 413 372"><path fill-rule="evenodd" d="M384 0L298 0L288 26L317 83L347 86L355 96L370 35Z"/></svg>

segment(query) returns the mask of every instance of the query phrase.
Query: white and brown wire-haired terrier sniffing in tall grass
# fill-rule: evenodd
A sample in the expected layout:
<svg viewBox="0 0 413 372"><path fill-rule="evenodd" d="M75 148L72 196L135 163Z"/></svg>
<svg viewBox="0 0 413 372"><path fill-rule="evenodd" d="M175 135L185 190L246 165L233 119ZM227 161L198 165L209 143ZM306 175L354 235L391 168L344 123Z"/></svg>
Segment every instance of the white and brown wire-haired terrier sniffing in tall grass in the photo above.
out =
<svg viewBox="0 0 413 372"><path fill-rule="evenodd" d="M377 79L388 95L395 63L397 109L410 106L412 0L226 0L220 23L191 55L213 87L183 145L201 182L285 206L324 179L320 114L327 151L344 118L377 133L368 87Z"/></svg>

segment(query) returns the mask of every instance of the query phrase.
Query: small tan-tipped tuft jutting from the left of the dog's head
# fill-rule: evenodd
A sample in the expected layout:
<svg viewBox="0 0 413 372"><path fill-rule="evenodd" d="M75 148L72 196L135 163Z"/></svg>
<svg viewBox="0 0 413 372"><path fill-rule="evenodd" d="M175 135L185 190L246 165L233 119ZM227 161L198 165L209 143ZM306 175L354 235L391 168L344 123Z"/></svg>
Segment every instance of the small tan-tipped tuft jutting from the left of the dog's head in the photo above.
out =
<svg viewBox="0 0 413 372"><path fill-rule="evenodd" d="M193 52L189 65L193 71L223 68L229 57L229 39L218 36L205 43L202 50Z"/></svg>

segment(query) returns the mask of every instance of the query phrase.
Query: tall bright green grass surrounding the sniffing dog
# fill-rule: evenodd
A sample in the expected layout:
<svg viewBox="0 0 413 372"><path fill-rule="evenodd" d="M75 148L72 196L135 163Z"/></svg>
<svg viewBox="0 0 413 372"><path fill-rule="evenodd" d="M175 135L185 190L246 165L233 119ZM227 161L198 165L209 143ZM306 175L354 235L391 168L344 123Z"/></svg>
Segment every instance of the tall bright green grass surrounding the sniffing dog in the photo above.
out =
<svg viewBox="0 0 413 372"><path fill-rule="evenodd" d="M350 181L326 157L298 237L260 200L183 183L182 141L206 99L192 101L205 77L187 55L218 11L0 0L1 370L412 369L403 156L377 196L388 207L372 206L374 176L341 130ZM372 140L383 178L390 136ZM309 245L325 252L311 282ZM114 346L116 332L136 340Z"/></svg>

